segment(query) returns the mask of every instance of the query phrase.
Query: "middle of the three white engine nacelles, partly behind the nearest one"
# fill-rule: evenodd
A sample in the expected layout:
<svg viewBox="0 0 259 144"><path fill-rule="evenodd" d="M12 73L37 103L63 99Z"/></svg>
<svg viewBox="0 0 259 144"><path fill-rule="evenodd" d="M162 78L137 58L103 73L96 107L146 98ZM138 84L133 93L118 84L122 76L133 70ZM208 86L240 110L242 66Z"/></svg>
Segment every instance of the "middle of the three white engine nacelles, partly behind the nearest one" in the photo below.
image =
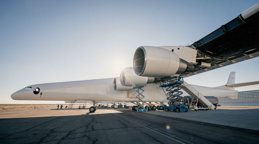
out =
<svg viewBox="0 0 259 144"><path fill-rule="evenodd" d="M142 77L136 75L133 67L126 67L120 73L120 81L123 86L132 86L133 88L138 88L140 86L145 86L146 84L151 84L154 82L160 82L159 78L155 77Z"/></svg>

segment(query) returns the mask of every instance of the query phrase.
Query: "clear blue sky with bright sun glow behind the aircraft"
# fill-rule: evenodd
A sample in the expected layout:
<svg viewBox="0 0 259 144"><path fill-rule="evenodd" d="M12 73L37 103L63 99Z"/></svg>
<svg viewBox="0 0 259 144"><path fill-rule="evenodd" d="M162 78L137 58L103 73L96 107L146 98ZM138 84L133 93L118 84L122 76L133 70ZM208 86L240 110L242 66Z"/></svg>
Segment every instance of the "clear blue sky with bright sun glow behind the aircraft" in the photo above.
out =
<svg viewBox="0 0 259 144"><path fill-rule="evenodd" d="M25 86L118 77L139 46L186 46L258 0L0 1L0 103ZM188 77L220 86L259 80L259 58ZM259 86L236 88L258 90Z"/></svg>

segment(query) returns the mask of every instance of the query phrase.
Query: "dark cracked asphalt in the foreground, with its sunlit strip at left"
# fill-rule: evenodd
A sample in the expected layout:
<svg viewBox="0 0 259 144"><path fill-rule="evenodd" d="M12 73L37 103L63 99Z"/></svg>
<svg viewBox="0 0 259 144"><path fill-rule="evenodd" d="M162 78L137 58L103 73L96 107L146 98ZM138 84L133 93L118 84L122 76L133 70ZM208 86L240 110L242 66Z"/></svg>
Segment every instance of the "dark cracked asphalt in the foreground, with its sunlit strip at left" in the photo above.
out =
<svg viewBox="0 0 259 144"><path fill-rule="evenodd" d="M7 118L8 114L16 118ZM88 109L51 107L12 109L0 111L0 115L0 144L259 143L259 135L253 130L229 129L129 109L99 108L89 113Z"/></svg>

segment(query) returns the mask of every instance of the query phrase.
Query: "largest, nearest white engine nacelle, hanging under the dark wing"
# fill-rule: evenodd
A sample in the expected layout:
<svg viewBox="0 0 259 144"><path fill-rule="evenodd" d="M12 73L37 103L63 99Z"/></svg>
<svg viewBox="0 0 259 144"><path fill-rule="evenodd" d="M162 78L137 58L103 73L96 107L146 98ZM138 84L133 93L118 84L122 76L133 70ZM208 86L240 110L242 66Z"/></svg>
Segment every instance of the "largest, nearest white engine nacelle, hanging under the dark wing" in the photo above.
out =
<svg viewBox="0 0 259 144"><path fill-rule="evenodd" d="M178 48L180 49L180 48ZM196 50L188 50L196 58ZM179 58L178 54L165 48L142 46L137 48L133 59L134 71L144 77L170 77L192 71L194 65Z"/></svg>

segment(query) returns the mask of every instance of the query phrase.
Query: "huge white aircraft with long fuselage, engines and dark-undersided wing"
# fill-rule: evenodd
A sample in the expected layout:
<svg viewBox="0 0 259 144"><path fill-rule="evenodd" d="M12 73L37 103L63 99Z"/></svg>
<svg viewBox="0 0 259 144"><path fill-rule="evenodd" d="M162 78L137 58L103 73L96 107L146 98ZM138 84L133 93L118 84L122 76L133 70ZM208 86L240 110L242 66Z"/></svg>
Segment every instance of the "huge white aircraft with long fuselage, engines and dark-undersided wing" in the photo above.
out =
<svg viewBox="0 0 259 144"><path fill-rule="evenodd" d="M259 3L191 46L141 46L134 54L133 67L124 68L120 77L36 84L13 93L11 97L14 100L140 102L136 96L142 95L139 90L144 90L145 97L139 97L142 103L168 102L168 95L161 88L163 84L169 86L168 83L179 81L179 77L259 56L258 11ZM202 99L203 95L236 98L234 87L252 84L258 82L235 84L235 72L231 72L223 86L209 88L187 82L183 86L190 91L184 90L188 91L186 95L196 94L197 101L200 98L207 103ZM210 107L214 108L213 105ZM96 109L91 107L89 110L94 112Z"/></svg>

